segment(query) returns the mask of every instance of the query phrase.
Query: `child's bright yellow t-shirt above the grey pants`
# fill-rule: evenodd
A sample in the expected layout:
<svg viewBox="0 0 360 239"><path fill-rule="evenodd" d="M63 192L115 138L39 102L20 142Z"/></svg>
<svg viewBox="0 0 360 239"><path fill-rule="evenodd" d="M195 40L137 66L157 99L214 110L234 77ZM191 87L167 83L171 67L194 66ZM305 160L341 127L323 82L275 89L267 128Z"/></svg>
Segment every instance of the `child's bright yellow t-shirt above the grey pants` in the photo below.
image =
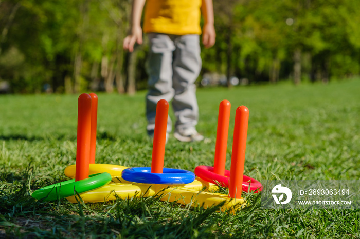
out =
<svg viewBox="0 0 360 239"><path fill-rule="evenodd" d="M201 1L147 0L143 31L174 35L200 35Z"/></svg>

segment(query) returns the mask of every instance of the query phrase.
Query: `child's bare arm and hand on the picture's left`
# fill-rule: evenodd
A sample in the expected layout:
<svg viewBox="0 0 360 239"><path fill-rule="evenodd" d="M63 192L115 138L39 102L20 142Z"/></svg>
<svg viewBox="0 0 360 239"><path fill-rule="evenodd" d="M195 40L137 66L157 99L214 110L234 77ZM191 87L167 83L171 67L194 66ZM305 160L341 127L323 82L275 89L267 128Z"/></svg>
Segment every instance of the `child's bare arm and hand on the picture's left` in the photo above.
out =
<svg viewBox="0 0 360 239"><path fill-rule="evenodd" d="M130 33L125 37L123 42L123 48L129 50L130 52L134 51L134 44L142 44L142 29L141 29L141 14L142 9L145 5L146 0L133 0L131 18L130 18Z"/></svg>

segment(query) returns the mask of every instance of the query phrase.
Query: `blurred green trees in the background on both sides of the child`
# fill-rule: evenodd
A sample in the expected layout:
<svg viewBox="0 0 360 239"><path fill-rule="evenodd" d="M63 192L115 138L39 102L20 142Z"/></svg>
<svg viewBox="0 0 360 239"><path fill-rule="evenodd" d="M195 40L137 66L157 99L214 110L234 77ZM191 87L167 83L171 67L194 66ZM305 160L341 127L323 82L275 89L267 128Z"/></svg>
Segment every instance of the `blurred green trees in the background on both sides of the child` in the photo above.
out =
<svg viewBox="0 0 360 239"><path fill-rule="evenodd" d="M202 72L275 82L292 78L300 52L302 78L359 74L357 0L213 2L217 42L202 49ZM15 93L42 92L45 84L60 93L104 90L115 75L127 85L122 41L130 11L130 0L1 1L0 79ZM138 89L147 85L147 51L137 54Z"/></svg>

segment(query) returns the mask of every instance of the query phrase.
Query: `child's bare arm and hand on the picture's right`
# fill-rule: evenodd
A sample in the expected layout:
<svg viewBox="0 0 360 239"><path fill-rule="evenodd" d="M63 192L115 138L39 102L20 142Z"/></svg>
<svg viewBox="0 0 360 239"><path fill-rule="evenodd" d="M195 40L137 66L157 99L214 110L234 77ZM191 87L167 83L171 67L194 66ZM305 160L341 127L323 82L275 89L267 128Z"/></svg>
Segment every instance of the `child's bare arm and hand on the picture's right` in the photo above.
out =
<svg viewBox="0 0 360 239"><path fill-rule="evenodd" d="M216 38L212 0L202 0L201 11L205 22L203 26L203 44L206 48L209 48L215 44Z"/></svg>

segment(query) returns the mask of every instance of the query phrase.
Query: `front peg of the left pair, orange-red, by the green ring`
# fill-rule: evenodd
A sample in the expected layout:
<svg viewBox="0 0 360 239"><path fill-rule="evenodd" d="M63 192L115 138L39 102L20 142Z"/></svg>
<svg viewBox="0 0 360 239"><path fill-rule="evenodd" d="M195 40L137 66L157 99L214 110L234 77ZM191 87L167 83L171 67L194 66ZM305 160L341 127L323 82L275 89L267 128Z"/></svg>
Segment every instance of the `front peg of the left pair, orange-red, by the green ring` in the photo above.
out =
<svg viewBox="0 0 360 239"><path fill-rule="evenodd" d="M76 143L75 181L89 177L91 131L91 96L81 94L78 99L78 136Z"/></svg>

